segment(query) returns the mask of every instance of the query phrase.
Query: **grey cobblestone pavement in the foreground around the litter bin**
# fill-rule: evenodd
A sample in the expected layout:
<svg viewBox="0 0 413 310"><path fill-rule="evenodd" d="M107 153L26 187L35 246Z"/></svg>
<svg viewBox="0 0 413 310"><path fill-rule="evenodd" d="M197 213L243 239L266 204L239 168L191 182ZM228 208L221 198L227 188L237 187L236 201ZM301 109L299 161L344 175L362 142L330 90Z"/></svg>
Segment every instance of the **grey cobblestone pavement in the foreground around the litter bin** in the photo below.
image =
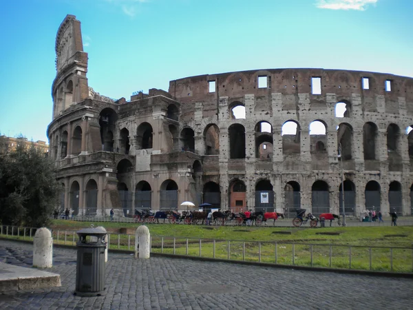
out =
<svg viewBox="0 0 413 310"><path fill-rule="evenodd" d="M30 267L32 245L0 240L0 261ZM412 309L413 281L111 254L105 296L73 295L76 250L54 248L61 287L10 291L0 309Z"/></svg>

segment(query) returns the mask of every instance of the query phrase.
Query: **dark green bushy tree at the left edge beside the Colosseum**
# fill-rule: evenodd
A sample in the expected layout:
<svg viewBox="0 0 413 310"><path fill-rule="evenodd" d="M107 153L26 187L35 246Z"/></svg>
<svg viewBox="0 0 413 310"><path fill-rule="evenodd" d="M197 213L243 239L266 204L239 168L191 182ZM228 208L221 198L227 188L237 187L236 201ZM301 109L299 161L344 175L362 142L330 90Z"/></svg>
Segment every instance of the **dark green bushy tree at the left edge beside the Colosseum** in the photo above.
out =
<svg viewBox="0 0 413 310"><path fill-rule="evenodd" d="M0 154L0 220L3 225L42 227L50 224L61 188L54 164L34 144Z"/></svg>

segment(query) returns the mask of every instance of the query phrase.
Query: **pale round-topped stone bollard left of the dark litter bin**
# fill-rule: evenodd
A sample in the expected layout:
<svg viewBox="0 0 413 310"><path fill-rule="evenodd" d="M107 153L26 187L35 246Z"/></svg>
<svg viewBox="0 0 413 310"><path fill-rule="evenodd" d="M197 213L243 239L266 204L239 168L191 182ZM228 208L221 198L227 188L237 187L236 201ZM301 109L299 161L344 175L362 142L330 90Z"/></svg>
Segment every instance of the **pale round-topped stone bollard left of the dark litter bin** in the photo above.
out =
<svg viewBox="0 0 413 310"><path fill-rule="evenodd" d="M33 267L51 268L53 265L53 238L46 227L37 229L33 238Z"/></svg>

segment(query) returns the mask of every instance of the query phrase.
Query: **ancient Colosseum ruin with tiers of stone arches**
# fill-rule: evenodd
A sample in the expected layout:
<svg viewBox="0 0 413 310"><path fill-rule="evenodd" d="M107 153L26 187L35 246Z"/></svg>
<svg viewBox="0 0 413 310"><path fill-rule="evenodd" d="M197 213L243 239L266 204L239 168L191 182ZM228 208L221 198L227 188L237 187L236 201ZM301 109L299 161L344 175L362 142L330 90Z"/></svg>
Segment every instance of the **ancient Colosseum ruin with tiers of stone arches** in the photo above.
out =
<svg viewBox="0 0 413 310"><path fill-rule="evenodd" d="M87 80L81 23L56 35L47 128L61 208L195 205L412 214L413 79L325 69L191 76L113 100Z"/></svg>

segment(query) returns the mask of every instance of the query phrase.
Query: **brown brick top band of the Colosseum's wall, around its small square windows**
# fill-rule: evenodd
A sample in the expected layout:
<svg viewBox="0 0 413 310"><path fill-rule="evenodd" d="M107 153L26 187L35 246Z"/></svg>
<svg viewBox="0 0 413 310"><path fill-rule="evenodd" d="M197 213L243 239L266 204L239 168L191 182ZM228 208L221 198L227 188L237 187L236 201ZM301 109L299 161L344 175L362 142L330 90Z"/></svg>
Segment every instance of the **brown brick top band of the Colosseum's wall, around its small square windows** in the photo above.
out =
<svg viewBox="0 0 413 310"><path fill-rule="evenodd" d="M267 87L258 87L258 77L267 76ZM321 78L321 94L312 94L313 77ZM362 79L368 78L370 87L364 90ZM209 92L209 81L215 81L215 92ZM385 90L385 82L390 81L391 91ZM169 82L169 93L182 103L208 102L227 96L230 99L254 94L255 97L269 96L271 93L283 95L310 94L310 100L320 101L328 93L338 98L350 99L352 94L362 94L368 103L369 97L385 96L385 100L396 101L405 97L413 113L413 78L375 72L324 70L324 69L269 69L229 72L191 76Z"/></svg>

